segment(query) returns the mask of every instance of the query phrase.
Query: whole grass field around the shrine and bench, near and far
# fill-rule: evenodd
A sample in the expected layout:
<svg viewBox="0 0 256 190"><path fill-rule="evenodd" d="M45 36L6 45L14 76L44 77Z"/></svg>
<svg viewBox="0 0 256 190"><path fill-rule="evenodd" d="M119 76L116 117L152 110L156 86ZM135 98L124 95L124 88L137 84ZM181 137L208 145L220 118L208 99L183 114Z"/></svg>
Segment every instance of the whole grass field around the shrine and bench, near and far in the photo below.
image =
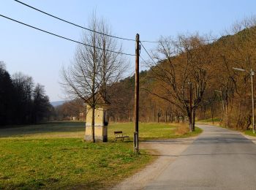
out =
<svg viewBox="0 0 256 190"><path fill-rule="evenodd" d="M135 155L132 142L115 142L116 130L132 136L132 123L110 125L107 143L83 142L82 122L0 129L0 189L108 189L154 160L146 151ZM198 133L140 123L140 140Z"/></svg>

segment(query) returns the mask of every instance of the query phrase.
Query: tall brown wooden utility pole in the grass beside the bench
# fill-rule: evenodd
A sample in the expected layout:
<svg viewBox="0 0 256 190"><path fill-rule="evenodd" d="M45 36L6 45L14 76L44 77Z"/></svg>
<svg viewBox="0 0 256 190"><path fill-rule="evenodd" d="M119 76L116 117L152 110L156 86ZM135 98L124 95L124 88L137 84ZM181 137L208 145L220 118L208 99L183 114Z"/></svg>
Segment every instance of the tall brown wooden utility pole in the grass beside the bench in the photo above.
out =
<svg viewBox="0 0 256 190"><path fill-rule="evenodd" d="M136 34L135 50L135 132L133 138L133 150L139 152L139 62L140 62L140 35Z"/></svg>

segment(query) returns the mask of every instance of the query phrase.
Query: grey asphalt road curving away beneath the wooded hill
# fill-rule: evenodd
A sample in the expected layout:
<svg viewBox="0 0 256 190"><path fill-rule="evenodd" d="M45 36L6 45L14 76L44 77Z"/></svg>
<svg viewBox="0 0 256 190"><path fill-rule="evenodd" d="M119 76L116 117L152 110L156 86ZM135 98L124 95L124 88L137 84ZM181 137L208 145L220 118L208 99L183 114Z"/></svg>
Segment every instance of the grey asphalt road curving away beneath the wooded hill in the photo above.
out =
<svg viewBox="0 0 256 190"><path fill-rule="evenodd" d="M256 189L256 145L239 132L203 133L145 189Z"/></svg>

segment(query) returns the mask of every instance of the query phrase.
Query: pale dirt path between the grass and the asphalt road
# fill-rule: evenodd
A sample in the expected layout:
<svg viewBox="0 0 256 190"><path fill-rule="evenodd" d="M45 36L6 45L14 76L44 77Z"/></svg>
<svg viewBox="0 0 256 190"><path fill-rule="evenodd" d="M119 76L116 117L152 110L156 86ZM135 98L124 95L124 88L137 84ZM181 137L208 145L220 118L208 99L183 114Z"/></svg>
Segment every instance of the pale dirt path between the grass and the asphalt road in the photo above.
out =
<svg viewBox="0 0 256 190"><path fill-rule="evenodd" d="M141 142L140 148L147 149L152 155L158 156L158 159L142 171L119 183L113 189L143 189L151 180L157 178L162 170L172 164L196 138Z"/></svg>

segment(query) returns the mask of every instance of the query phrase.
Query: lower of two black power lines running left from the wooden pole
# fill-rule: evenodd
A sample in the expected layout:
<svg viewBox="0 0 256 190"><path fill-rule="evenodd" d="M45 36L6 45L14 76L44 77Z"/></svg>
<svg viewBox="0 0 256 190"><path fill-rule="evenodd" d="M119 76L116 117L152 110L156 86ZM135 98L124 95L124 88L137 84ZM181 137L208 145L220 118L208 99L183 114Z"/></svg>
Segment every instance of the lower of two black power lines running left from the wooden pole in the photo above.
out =
<svg viewBox="0 0 256 190"><path fill-rule="evenodd" d="M16 22L16 23L20 23L20 24L23 24L23 25L25 25L25 26L29 26L30 28L34 28L34 29L37 29L37 30L39 30L39 31L43 31L43 32L45 32L45 33L47 33L47 34L51 34L51 35L53 35L53 36L55 36L55 37L59 37L59 38L62 38L62 39L67 39L67 40L69 40L69 41L71 41L71 42L75 42L75 43L78 43L78 44L81 44L81 45L86 45L86 46L89 46L89 47L95 47L95 46L93 46L93 45L89 45L89 44L86 44L86 43L83 43L83 42L78 42L78 41L76 41L76 40L74 40L74 39L69 39L69 38L67 38L67 37L62 37L62 36L60 36L60 35L58 35L58 34L54 34L54 33L50 32L50 31L45 31L45 30L42 30L42 29L40 29L40 28L31 26L31 25L29 25L29 24L22 23L22 22L20 22L20 21L18 21L18 20L15 20L15 19L12 19L12 18L8 18L7 16L4 16L4 15L0 15L0 16L3 17L3 18L7 18L8 20L12 20L12 21L14 21L14 22ZM105 50L105 49L102 49L101 47L95 47L95 48L97 48L97 49L99 49L99 50ZM105 50L105 51L112 52L112 53L123 54L123 55L126 55L126 56L135 56L134 54L122 53L122 52L113 51L113 50Z"/></svg>

